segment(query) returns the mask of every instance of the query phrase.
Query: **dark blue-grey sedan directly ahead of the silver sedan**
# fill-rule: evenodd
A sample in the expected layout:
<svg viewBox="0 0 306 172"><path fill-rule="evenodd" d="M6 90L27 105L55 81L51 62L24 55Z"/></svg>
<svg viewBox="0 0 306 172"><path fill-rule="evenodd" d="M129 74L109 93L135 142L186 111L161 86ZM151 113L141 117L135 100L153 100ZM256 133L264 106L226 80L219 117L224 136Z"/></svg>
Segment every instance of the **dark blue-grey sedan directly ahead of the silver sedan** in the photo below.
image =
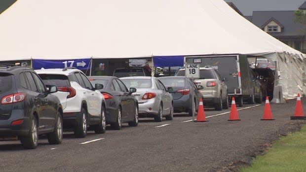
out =
<svg viewBox="0 0 306 172"><path fill-rule="evenodd" d="M191 79L185 78L185 76L165 76L160 77L159 80L165 87L173 88L171 94L174 112L188 112L192 116L193 108L193 112L196 113L199 100L202 97L198 90L203 86L197 87Z"/></svg>

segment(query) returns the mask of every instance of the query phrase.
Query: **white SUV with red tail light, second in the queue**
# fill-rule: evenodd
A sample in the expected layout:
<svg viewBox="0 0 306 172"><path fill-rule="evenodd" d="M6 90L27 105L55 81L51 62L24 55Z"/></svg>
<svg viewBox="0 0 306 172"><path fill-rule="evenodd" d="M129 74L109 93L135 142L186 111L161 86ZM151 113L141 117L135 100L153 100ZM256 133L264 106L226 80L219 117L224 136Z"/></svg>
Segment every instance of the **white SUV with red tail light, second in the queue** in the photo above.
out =
<svg viewBox="0 0 306 172"><path fill-rule="evenodd" d="M86 75L76 68L35 70L44 84L57 86L57 96L63 106L64 128L72 128L77 138L84 138L87 127L96 134L105 133L105 99L92 86Z"/></svg>

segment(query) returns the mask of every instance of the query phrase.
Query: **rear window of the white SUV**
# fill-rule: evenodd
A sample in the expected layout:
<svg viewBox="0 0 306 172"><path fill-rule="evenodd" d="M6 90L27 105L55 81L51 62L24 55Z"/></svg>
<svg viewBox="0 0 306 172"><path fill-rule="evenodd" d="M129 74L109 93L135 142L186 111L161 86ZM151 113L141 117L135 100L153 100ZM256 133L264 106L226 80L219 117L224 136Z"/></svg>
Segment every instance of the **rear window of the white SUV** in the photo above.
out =
<svg viewBox="0 0 306 172"><path fill-rule="evenodd" d="M55 85L57 87L70 86L66 75L62 74L38 74L45 85Z"/></svg>

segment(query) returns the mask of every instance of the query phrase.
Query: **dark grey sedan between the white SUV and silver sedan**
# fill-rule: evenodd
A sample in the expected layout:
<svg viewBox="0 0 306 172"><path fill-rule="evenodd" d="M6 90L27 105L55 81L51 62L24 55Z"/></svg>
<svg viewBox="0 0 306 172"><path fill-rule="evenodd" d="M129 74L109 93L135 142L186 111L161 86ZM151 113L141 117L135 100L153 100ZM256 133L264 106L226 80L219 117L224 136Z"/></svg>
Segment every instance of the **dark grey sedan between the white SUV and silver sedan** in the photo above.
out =
<svg viewBox="0 0 306 172"><path fill-rule="evenodd" d="M95 84L103 84L99 91L106 102L106 123L116 130L121 129L121 123L128 122L129 126L138 125L138 102L132 93L136 88L128 91L124 83L115 76L89 76Z"/></svg>

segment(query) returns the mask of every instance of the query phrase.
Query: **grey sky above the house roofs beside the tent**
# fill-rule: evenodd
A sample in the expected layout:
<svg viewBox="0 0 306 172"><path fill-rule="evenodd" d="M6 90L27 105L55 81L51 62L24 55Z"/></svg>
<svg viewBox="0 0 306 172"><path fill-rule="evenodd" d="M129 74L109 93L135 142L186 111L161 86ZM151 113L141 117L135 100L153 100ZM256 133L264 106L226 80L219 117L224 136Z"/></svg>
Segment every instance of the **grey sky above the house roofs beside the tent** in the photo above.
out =
<svg viewBox="0 0 306 172"><path fill-rule="evenodd" d="M251 16L253 11L294 11L306 0L225 0L234 5L245 16Z"/></svg>

